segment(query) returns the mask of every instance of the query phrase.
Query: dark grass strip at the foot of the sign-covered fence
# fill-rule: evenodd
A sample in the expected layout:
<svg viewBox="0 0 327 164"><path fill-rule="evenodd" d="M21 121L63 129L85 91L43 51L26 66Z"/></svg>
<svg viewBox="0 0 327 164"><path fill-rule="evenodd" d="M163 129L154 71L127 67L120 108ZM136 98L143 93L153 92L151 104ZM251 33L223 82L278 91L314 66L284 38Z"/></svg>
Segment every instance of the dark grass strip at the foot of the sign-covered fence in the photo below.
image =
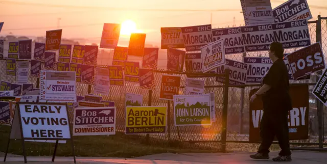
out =
<svg viewBox="0 0 327 164"><path fill-rule="evenodd" d="M0 151L7 147L10 126L0 125ZM211 153L217 152L206 148L184 148L185 143L151 142L147 144L145 138L138 135L125 135L116 132L109 136L74 136L76 156L85 157L137 157L157 153ZM27 156L52 156L54 143L25 142ZM8 153L22 155L21 140L11 140ZM56 156L72 156L71 142L58 144Z"/></svg>

